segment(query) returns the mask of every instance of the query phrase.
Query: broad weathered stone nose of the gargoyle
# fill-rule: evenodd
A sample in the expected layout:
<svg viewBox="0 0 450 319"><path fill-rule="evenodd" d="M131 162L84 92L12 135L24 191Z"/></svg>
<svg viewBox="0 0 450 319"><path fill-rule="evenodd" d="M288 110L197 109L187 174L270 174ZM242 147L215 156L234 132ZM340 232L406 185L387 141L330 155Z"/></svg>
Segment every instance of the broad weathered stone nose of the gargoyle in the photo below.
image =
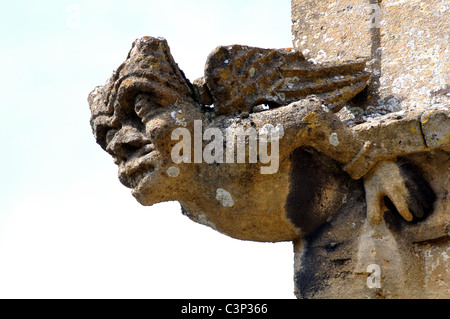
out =
<svg viewBox="0 0 450 319"><path fill-rule="evenodd" d="M106 151L116 158L127 160L149 143L150 140L137 128L123 125L108 142Z"/></svg>

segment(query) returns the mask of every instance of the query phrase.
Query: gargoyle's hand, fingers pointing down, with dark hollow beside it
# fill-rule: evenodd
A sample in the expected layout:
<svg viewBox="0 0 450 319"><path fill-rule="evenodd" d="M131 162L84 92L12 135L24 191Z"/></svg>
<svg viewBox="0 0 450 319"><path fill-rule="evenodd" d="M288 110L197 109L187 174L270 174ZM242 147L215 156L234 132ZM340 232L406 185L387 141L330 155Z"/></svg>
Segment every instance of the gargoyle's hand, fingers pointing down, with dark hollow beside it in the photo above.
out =
<svg viewBox="0 0 450 319"><path fill-rule="evenodd" d="M364 179L367 217L378 225L392 203L408 222L426 217L433 208L434 191L423 177L409 164L394 161L378 163ZM387 200L389 199L389 200Z"/></svg>

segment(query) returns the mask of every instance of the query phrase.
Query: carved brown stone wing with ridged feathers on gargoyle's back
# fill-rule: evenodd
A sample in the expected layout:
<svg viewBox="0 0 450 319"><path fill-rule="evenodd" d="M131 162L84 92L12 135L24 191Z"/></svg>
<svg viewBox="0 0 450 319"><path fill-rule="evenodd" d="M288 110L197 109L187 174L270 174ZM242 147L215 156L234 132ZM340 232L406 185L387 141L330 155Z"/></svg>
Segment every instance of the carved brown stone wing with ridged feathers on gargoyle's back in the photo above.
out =
<svg viewBox="0 0 450 319"><path fill-rule="evenodd" d="M197 99L216 114L250 112L259 104L287 105L308 95L333 112L361 92L369 79L366 60L314 64L297 51L221 46L208 57L205 77L194 82Z"/></svg>

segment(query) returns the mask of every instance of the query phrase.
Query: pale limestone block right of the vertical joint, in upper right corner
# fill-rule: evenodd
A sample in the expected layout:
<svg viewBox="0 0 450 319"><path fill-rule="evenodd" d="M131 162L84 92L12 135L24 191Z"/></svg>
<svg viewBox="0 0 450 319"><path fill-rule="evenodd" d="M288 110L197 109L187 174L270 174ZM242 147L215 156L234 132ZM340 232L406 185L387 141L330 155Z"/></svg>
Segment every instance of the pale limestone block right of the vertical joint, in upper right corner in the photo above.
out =
<svg viewBox="0 0 450 319"><path fill-rule="evenodd" d="M380 11L380 96L405 107L449 105L449 2L383 1Z"/></svg>

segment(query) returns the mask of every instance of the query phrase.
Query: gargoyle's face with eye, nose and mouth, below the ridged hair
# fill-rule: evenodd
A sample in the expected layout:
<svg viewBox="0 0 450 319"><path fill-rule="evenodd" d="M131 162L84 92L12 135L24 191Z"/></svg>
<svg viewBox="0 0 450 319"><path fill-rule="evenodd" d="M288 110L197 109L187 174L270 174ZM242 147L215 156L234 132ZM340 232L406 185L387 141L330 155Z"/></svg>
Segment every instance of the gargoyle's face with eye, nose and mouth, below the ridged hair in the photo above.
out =
<svg viewBox="0 0 450 319"><path fill-rule="evenodd" d="M119 180L142 204L170 199L168 193L161 198L155 196L160 191L152 190L169 186L174 167L171 132L180 126L191 127L196 110L192 104L163 106L151 93L138 93L131 111L120 128L108 130L106 151L119 166Z"/></svg>

